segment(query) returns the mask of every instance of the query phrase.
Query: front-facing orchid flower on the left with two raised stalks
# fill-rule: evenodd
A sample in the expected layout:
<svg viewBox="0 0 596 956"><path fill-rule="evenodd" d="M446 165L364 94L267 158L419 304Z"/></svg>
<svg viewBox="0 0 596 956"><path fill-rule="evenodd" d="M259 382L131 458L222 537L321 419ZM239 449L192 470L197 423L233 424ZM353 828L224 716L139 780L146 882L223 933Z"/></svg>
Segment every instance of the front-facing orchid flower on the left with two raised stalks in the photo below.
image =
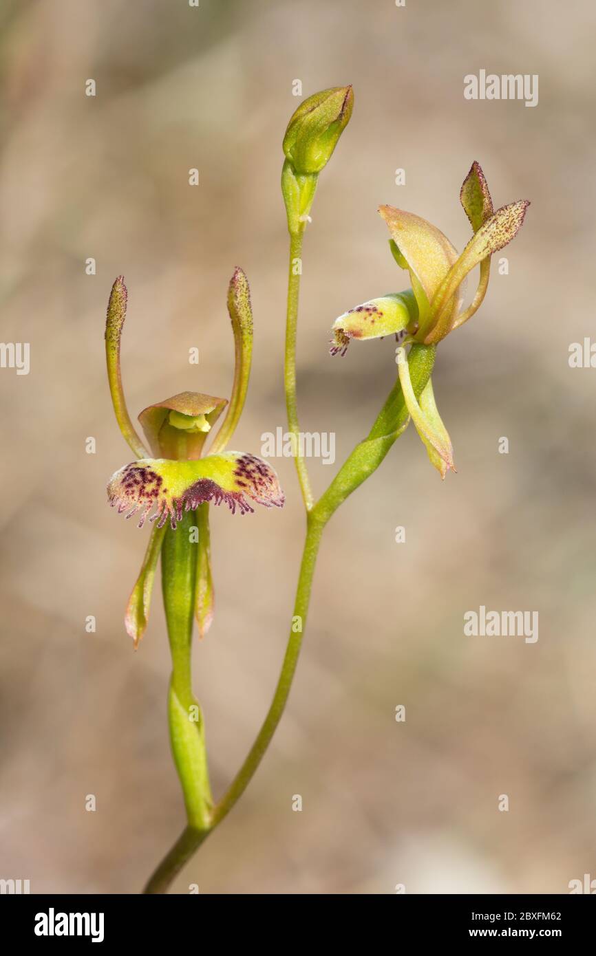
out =
<svg viewBox="0 0 596 956"><path fill-rule="evenodd" d="M235 270L228 294L235 343L231 402L197 392L181 392L149 405L139 415L148 448L130 420L122 389L121 334L126 303L126 287L119 276L107 311L106 360L116 419L137 460L112 475L107 486L108 502L119 513L126 512L127 518L140 512L139 528L143 528L147 518L154 523L125 615L126 631L137 647L147 625L167 520L171 531L175 531L185 512L191 511L198 528L198 542L193 545L197 548L194 610L203 637L213 617L209 504L225 503L232 513L246 514L254 511L252 503L281 508L284 496L275 470L266 461L246 452L225 450L244 406L251 370L253 315L244 272ZM226 406L227 414L210 454L204 456L211 429Z"/></svg>

